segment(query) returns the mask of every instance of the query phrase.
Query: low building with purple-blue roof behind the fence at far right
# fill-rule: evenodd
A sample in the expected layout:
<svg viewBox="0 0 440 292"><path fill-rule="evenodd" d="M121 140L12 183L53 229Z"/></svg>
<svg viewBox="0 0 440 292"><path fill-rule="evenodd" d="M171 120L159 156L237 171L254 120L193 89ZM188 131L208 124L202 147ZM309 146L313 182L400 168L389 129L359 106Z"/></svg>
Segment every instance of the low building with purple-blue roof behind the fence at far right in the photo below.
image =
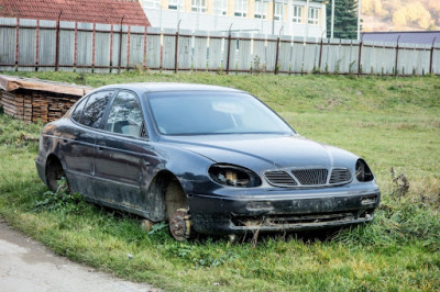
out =
<svg viewBox="0 0 440 292"><path fill-rule="evenodd" d="M362 40L366 42L387 42L400 44L432 45L440 43L440 31L420 32L371 32L362 33Z"/></svg>

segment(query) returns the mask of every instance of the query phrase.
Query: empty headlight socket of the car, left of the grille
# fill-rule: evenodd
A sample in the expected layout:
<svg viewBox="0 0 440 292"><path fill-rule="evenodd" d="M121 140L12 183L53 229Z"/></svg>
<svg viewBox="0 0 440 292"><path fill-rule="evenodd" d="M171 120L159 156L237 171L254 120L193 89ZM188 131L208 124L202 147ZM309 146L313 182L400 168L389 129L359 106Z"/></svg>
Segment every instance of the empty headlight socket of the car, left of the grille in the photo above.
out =
<svg viewBox="0 0 440 292"><path fill-rule="evenodd" d="M208 172L215 182L223 186L253 188L262 183L255 172L239 166L217 164L212 165Z"/></svg>

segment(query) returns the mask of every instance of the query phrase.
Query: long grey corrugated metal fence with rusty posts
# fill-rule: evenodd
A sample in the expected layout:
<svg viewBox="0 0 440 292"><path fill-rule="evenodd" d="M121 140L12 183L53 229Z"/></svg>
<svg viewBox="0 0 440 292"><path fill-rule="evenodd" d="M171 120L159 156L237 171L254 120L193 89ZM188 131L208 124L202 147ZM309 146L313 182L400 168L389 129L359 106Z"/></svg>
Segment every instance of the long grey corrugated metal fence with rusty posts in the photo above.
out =
<svg viewBox="0 0 440 292"><path fill-rule="evenodd" d="M417 45L121 24L0 18L0 70L440 75L440 40Z"/></svg>

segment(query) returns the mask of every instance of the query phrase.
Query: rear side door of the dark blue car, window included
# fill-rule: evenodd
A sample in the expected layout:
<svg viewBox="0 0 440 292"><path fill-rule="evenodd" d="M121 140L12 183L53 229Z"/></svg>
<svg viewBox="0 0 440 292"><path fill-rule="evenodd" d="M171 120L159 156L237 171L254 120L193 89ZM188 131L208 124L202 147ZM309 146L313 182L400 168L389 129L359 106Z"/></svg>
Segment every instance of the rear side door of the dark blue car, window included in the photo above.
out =
<svg viewBox="0 0 440 292"><path fill-rule="evenodd" d="M72 114L73 126L66 127L61 137L69 187L88 198L95 196L92 178L97 130L113 94L114 90L103 90L82 99Z"/></svg>

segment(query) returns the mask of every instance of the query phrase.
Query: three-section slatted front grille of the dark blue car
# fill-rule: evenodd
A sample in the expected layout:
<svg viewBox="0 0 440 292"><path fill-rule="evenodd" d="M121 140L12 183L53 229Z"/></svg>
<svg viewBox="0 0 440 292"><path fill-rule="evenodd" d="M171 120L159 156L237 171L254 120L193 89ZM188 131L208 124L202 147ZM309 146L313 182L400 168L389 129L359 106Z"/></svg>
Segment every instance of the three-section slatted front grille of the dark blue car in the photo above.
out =
<svg viewBox="0 0 440 292"><path fill-rule="evenodd" d="M326 168L292 169L289 171L272 170L264 173L267 182L274 187L326 187L344 184L351 181L351 172L346 168L333 168L329 178Z"/></svg>

